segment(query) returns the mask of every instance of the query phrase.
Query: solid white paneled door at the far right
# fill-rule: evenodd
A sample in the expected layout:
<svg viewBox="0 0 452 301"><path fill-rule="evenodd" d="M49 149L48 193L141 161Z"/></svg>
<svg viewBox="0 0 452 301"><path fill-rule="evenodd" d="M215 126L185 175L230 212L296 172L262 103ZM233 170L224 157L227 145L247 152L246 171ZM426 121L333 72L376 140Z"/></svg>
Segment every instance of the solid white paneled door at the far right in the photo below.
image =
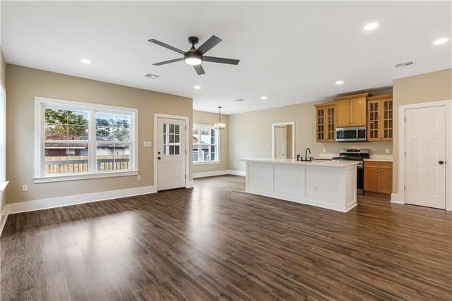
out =
<svg viewBox="0 0 452 301"><path fill-rule="evenodd" d="M405 203L446 209L446 106L405 117Z"/></svg>

